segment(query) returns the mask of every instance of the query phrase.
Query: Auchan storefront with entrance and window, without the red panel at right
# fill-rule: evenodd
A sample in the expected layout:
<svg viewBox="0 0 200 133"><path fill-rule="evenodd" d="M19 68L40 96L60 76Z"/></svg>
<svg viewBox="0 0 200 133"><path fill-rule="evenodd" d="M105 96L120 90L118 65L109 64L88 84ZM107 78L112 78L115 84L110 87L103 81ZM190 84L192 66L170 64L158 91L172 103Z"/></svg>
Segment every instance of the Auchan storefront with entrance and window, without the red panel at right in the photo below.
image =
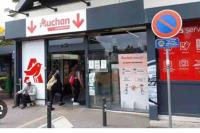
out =
<svg viewBox="0 0 200 133"><path fill-rule="evenodd" d="M132 7L143 12L143 3L132 1L8 22L8 38L21 38L16 41L16 82L22 78L24 86L31 80L38 88L38 102L44 103L49 72L59 69L66 85L70 69L79 64L84 73L82 100L88 107L101 107L106 97L110 108L148 112L144 12L129 12ZM122 17L124 13L130 17ZM19 29L12 31L14 25ZM25 33L16 34L22 29Z"/></svg>

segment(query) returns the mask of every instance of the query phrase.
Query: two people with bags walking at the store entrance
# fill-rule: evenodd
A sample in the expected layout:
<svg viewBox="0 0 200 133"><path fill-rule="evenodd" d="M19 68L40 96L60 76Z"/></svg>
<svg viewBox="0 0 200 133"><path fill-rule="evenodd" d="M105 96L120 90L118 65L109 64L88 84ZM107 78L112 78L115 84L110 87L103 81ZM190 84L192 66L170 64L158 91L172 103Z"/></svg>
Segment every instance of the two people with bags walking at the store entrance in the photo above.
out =
<svg viewBox="0 0 200 133"><path fill-rule="evenodd" d="M76 64L68 76L68 83L70 84L70 88L72 91L72 102L73 105L79 105L78 97L80 93L80 89L84 88L83 84L83 77L82 73L78 67L78 64ZM60 74L58 70L53 70L50 72L48 76L48 83L47 83L47 90L48 90L48 100L53 104L54 97L56 93L60 94L60 102L59 105L62 106L63 103L63 84L60 79ZM52 107L52 110L54 108Z"/></svg>

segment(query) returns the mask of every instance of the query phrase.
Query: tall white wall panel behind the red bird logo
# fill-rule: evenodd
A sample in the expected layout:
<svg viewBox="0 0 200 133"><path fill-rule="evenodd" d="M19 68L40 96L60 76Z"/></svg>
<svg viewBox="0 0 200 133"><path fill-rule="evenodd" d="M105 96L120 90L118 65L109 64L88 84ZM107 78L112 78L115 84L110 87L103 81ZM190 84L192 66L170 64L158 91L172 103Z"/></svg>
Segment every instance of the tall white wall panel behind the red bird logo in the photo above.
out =
<svg viewBox="0 0 200 133"><path fill-rule="evenodd" d="M35 58L37 60L36 62L37 64L35 63L31 68L33 68L36 65L38 66L38 63L41 64L40 73L37 76L41 74L43 82L38 83L34 81L33 76L28 76L28 77L30 77L29 80L31 81L31 83L37 87L37 99L40 99L37 102L41 104L44 104L45 102L45 47L44 45L45 45L44 40L25 41L22 43L23 87L25 87L26 85L26 83L24 83L24 79L26 77L26 74L24 71L27 71L30 59Z"/></svg>

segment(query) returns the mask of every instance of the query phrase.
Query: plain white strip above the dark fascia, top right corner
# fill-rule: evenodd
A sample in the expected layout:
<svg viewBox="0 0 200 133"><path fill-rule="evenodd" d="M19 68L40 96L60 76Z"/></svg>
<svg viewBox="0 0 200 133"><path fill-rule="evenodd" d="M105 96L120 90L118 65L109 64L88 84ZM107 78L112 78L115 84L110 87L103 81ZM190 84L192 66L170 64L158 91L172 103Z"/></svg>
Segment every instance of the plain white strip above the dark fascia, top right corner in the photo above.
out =
<svg viewBox="0 0 200 133"><path fill-rule="evenodd" d="M183 3L200 2L200 0L144 0L144 8L153 8Z"/></svg>

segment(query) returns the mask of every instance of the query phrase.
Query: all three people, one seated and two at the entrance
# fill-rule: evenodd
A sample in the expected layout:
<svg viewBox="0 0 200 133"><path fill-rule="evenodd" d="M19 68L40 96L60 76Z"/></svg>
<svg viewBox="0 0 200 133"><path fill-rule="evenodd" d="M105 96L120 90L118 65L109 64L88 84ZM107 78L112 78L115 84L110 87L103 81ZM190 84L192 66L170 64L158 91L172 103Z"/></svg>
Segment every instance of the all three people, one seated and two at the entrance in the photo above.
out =
<svg viewBox="0 0 200 133"><path fill-rule="evenodd" d="M69 73L68 76L68 83L70 84L70 88L72 91L72 99L71 101L73 102L73 105L79 105L78 98L79 98L79 93L80 89L84 88L83 84L83 76L82 73L78 67L78 64L76 64L71 72ZM18 91L15 95L15 105L13 108L20 106L22 103L22 109L27 107L27 103L33 103L36 100L36 94L37 94L37 88L35 85L31 83L30 80L26 82L26 86ZM59 70L52 70L48 76L48 83L47 83L47 98L48 101L51 102L53 105L54 97L56 93L60 94L60 102L59 105L62 106L64 105L63 103L63 84L60 79L60 74ZM54 108L52 107L52 110Z"/></svg>

